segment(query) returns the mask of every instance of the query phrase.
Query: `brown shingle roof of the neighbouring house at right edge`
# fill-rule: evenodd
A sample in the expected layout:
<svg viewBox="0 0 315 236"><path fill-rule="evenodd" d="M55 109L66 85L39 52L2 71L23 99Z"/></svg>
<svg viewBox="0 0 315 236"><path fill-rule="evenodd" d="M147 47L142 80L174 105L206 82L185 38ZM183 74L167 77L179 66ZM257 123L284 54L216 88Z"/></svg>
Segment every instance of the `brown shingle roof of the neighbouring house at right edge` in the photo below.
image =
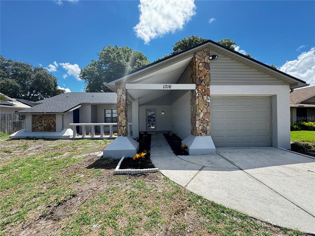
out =
<svg viewBox="0 0 315 236"><path fill-rule="evenodd" d="M290 93L290 107L315 107L315 104L304 104L303 101L315 97L315 86L296 89Z"/></svg>

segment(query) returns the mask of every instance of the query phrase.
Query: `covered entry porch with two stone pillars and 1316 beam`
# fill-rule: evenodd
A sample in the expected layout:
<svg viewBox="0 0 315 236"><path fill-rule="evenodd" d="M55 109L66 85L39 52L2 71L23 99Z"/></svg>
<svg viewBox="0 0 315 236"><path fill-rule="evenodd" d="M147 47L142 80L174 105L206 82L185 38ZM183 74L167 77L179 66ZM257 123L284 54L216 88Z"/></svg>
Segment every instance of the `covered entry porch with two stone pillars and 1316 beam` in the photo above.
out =
<svg viewBox="0 0 315 236"><path fill-rule="evenodd" d="M134 139L139 132L172 131L188 145L190 155L215 152L210 136L210 50L188 53L161 67L104 83L117 93L118 115L118 138L104 149L104 156L121 158L137 152L139 144L123 138L129 133L129 118ZM120 150L115 154L114 145Z"/></svg>

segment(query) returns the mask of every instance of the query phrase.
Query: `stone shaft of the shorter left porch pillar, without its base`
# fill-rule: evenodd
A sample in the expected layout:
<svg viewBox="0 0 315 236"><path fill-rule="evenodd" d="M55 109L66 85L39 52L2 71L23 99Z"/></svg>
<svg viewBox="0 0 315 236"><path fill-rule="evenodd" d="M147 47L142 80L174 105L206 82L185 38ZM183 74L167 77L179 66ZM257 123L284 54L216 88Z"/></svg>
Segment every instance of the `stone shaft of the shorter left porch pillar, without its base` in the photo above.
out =
<svg viewBox="0 0 315 236"><path fill-rule="evenodd" d="M117 136L128 136L128 105L125 82L117 85Z"/></svg>

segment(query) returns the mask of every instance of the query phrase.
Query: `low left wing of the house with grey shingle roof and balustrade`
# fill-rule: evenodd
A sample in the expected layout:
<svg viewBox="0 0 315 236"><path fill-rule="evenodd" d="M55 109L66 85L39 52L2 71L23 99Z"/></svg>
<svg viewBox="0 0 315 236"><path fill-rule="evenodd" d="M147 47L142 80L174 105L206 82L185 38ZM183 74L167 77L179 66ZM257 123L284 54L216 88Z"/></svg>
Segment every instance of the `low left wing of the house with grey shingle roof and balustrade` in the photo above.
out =
<svg viewBox="0 0 315 236"><path fill-rule="evenodd" d="M25 114L25 130L12 134L10 138L68 139L73 138L73 134L76 137L77 133L82 133L83 129L85 134L92 132L91 125L76 126L73 132L72 123L115 123L111 126L112 132L117 131L116 93L62 93L35 104L33 107L17 112ZM100 132L100 129L100 125L97 125L93 130ZM103 132L109 129L110 126Z"/></svg>

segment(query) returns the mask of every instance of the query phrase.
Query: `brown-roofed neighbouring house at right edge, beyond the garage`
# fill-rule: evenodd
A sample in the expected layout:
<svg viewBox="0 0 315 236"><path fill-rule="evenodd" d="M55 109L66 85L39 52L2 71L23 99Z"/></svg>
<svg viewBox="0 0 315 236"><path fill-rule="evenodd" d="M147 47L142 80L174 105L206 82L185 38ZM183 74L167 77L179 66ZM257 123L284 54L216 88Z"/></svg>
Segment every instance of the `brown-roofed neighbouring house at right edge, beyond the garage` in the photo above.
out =
<svg viewBox="0 0 315 236"><path fill-rule="evenodd" d="M315 122L315 86L290 93L291 122Z"/></svg>

